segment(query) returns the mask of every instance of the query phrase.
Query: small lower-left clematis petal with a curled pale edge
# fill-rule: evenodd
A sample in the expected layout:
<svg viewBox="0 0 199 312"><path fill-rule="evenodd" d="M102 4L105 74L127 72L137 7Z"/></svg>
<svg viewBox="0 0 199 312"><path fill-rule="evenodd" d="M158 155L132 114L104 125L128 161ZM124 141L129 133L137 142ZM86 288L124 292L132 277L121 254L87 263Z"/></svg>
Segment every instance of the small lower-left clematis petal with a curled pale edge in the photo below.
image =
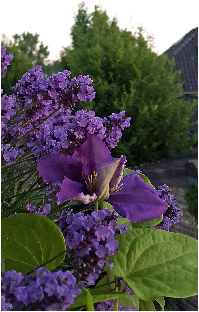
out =
<svg viewBox="0 0 199 312"><path fill-rule="evenodd" d="M88 204L97 199L97 195L95 193L91 195L84 195L86 192L86 188L83 188L83 185L79 182L75 182L70 180L69 178L64 178L64 182L62 183L60 193L58 196L59 202L64 202L68 199L80 200L84 204Z"/></svg>

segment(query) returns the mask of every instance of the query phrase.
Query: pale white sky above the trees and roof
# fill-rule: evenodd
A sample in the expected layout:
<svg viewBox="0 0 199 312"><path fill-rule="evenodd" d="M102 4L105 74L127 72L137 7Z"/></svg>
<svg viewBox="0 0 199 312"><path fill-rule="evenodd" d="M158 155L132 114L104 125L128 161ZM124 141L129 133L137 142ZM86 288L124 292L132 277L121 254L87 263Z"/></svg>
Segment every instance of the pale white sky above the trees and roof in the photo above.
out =
<svg viewBox="0 0 199 312"><path fill-rule="evenodd" d="M40 34L40 41L49 47L50 60L59 58L62 46L71 44L70 28L81 0L9 0L1 14L1 32L8 38L22 32ZM85 0L89 12L101 5L112 20L116 17L121 29L132 32L143 27L154 35L158 54L166 51L191 29L198 26L197 0ZM31 5L29 5L31 3ZM133 27L133 28L132 28Z"/></svg>

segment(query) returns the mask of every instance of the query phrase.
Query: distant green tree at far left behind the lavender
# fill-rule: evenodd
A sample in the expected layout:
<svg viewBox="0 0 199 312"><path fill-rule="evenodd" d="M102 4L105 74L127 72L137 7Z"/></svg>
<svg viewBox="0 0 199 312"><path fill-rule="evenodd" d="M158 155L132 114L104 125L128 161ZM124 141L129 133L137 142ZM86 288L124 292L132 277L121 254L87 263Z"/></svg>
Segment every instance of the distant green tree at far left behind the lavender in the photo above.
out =
<svg viewBox="0 0 199 312"><path fill-rule="evenodd" d="M15 34L12 36L14 43L9 41L5 35L3 35L2 46L6 47L6 51L13 54L14 58L7 66L7 75L2 79L3 94L11 95L13 90L11 88L17 83L17 80L21 80L21 76L32 68L33 66L40 65L44 72L46 71L44 60L48 57L48 46L44 46L40 42L39 35L31 34L30 32L23 32L22 35Z"/></svg>

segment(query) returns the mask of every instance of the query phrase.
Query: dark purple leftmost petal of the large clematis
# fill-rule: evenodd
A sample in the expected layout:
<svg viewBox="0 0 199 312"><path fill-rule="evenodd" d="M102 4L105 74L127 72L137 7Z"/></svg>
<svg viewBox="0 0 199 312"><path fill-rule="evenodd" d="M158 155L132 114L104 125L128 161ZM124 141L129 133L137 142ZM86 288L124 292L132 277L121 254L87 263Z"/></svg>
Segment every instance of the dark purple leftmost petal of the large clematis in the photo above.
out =
<svg viewBox="0 0 199 312"><path fill-rule="evenodd" d="M82 163L74 156L49 154L38 159L37 164L39 174L58 192L65 177L83 183Z"/></svg>

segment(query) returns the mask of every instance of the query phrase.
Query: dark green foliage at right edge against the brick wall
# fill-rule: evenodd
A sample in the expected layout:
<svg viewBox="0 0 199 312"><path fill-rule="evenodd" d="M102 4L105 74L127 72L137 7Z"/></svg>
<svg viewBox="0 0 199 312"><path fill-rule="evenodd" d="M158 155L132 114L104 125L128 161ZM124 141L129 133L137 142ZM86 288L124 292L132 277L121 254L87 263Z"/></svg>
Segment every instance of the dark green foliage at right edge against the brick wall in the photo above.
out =
<svg viewBox="0 0 199 312"><path fill-rule="evenodd" d="M194 216L198 223L198 189L194 185L189 185L184 199L187 201L188 212Z"/></svg>

